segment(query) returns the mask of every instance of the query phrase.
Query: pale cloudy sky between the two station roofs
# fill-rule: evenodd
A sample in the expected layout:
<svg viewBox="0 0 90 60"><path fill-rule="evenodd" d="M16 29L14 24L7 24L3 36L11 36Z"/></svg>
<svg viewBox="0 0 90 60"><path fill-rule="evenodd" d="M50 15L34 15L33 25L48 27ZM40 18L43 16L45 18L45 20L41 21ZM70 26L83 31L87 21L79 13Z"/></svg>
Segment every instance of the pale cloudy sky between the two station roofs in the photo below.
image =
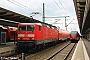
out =
<svg viewBox="0 0 90 60"><path fill-rule="evenodd" d="M45 17L59 17L45 18L46 23L65 30L65 16L69 16L66 17L67 30L79 31L73 0L2 0L0 7L42 21L43 3ZM38 14L33 14L35 12Z"/></svg>

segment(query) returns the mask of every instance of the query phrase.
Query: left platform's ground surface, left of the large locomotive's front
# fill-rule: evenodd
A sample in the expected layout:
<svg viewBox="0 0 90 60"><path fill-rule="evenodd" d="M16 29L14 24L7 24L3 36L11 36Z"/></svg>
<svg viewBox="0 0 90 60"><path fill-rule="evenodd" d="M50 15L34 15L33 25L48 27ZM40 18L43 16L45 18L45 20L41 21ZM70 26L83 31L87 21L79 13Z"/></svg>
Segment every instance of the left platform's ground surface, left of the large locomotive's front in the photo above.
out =
<svg viewBox="0 0 90 60"><path fill-rule="evenodd" d="M0 57L6 57L15 53L16 45L14 42L8 42L6 45L0 45Z"/></svg>

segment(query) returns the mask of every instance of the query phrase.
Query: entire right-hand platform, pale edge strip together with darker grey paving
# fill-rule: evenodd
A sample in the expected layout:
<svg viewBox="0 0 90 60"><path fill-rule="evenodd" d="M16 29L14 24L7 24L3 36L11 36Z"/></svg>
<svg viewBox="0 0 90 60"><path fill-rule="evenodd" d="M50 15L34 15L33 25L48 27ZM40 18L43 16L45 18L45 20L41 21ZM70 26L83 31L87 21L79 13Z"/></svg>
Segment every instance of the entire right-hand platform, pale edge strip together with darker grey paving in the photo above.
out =
<svg viewBox="0 0 90 60"><path fill-rule="evenodd" d="M90 41L80 38L71 60L90 60Z"/></svg>

